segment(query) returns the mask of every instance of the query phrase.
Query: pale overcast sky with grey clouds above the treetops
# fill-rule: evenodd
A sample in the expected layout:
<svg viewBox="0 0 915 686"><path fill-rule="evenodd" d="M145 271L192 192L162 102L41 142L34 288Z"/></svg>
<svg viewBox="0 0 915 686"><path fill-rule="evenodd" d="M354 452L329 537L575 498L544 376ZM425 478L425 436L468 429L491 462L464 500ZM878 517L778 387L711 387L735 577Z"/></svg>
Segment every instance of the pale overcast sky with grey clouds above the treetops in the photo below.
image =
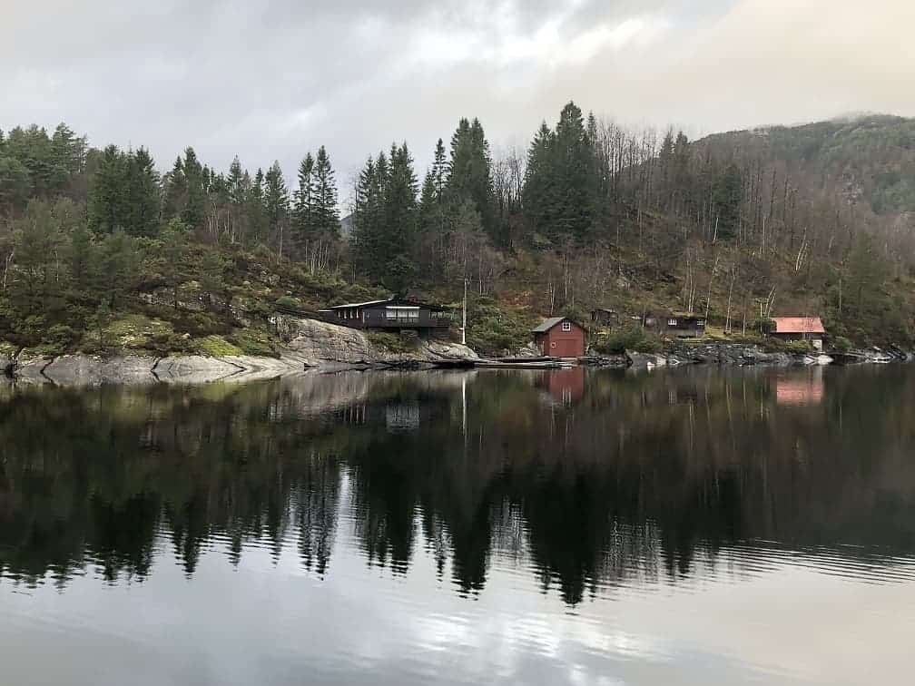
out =
<svg viewBox="0 0 915 686"><path fill-rule="evenodd" d="M915 115L912 0L0 0L0 128L186 145L225 168L328 146L341 185L478 116L526 145L574 99L692 134Z"/></svg>

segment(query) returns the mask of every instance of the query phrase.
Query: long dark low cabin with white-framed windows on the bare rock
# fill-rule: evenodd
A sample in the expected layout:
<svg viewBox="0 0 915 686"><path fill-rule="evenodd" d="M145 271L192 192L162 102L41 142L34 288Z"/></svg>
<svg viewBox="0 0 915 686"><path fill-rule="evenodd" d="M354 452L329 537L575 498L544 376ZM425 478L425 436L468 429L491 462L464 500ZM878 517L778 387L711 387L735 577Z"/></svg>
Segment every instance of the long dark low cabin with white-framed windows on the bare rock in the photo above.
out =
<svg viewBox="0 0 915 686"><path fill-rule="evenodd" d="M321 315L332 324L350 328L412 329L434 335L445 334L451 327L451 316L444 307L401 298L336 305L321 310Z"/></svg>

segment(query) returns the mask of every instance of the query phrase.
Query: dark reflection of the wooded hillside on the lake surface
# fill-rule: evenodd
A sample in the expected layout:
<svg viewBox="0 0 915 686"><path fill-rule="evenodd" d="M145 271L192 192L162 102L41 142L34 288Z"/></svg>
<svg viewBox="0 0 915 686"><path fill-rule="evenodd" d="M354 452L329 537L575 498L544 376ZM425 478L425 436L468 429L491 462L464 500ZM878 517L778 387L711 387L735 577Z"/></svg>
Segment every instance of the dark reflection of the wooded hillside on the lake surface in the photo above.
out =
<svg viewBox="0 0 915 686"><path fill-rule="evenodd" d="M568 603L748 539L911 552L910 376L834 370L786 406L786 373L812 372L599 372L566 405L542 372L7 387L0 573L143 579L165 540L188 574L219 542L324 574L344 512L370 564L407 573L422 542L475 593L513 558Z"/></svg>

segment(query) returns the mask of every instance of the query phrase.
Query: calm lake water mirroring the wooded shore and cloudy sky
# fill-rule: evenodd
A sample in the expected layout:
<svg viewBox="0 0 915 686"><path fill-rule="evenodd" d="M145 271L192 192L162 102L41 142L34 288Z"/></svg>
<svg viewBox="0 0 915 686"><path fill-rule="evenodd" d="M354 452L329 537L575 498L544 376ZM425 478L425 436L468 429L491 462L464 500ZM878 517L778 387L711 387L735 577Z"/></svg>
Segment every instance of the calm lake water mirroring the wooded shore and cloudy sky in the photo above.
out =
<svg viewBox="0 0 915 686"><path fill-rule="evenodd" d="M915 367L0 386L0 683L899 684Z"/></svg>

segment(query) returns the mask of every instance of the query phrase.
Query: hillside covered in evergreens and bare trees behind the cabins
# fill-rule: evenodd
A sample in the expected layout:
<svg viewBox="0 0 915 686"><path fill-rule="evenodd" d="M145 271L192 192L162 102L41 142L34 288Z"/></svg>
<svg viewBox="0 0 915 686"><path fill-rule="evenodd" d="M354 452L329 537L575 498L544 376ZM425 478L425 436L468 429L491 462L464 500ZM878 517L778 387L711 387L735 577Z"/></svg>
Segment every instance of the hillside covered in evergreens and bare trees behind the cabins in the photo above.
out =
<svg viewBox="0 0 915 686"><path fill-rule="evenodd" d="M457 303L464 284L487 351L596 305L701 313L734 336L821 315L844 342L915 342L915 120L691 142L570 102L527 149L462 119L427 170L394 144L353 188L324 146L303 152L286 176L192 147L159 167L62 123L0 132L3 345L272 354L277 303Z"/></svg>

